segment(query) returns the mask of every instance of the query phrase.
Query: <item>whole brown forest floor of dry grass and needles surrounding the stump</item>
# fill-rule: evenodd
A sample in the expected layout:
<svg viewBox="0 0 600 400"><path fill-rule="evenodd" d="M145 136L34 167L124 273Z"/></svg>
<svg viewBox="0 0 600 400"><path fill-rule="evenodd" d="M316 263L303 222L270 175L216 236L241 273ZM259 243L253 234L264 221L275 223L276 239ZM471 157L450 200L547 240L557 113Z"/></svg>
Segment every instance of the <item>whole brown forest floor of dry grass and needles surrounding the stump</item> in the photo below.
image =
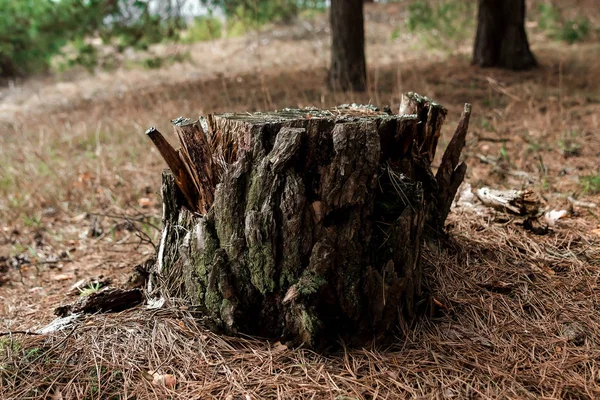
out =
<svg viewBox="0 0 600 400"><path fill-rule="evenodd" d="M80 279L124 284L154 254L165 166L143 132L169 132L180 115L352 102L394 110L415 91L448 108L444 145L469 102L466 181L531 189L564 218L537 235L459 202L452 244L425 251L439 312L391 349L318 355L216 336L184 309L142 307L0 336L0 398L600 398L600 45L534 33L539 68L480 69L470 40L432 48L419 35L395 38L405 16L402 5L367 7L366 93L324 84L325 17L158 46L191 56L158 70L1 88L0 332L45 326ZM176 385L153 384L148 371Z"/></svg>

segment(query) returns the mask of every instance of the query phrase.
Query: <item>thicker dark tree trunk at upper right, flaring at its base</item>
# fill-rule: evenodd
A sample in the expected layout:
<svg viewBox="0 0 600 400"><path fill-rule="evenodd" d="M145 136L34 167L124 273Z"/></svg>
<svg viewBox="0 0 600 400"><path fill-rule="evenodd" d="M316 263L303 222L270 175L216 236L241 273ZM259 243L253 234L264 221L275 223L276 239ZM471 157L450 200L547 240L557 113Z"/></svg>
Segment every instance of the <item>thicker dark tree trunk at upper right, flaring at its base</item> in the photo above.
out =
<svg viewBox="0 0 600 400"><path fill-rule="evenodd" d="M525 0L479 0L473 63L514 70L537 65L525 32Z"/></svg>

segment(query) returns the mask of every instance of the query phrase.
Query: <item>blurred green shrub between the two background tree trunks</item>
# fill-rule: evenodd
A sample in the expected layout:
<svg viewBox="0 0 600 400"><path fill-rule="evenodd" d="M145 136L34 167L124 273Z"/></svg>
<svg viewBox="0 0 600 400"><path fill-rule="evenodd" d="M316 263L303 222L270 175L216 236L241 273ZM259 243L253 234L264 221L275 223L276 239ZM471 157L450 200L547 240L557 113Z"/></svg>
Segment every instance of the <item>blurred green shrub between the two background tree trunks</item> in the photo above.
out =
<svg viewBox="0 0 600 400"><path fill-rule="evenodd" d="M474 21L474 2L417 0L408 6L405 27L422 34L429 45L439 47L472 36ZM399 29L392 33L392 39L399 36Z"/></svg>

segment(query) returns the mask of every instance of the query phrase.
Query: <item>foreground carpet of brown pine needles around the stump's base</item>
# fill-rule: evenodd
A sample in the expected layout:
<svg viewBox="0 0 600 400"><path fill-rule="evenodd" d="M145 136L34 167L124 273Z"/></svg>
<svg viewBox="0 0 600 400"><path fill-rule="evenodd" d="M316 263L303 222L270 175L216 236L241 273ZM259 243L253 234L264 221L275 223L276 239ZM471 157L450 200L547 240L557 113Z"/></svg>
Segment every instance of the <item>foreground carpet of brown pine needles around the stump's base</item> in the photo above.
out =
<svg viewBox="0 0 600 400"><path fill-rule="evenodd" d="M590 227L571 219L532 240L468 209L450 222L452 244L425 252L438 309L402 328L391 349L318 355L220 337L181 309L135 309L3 338L0 397L599 398L600 247ZM153 385L147 371L173 374L175 388Z"/></svg>

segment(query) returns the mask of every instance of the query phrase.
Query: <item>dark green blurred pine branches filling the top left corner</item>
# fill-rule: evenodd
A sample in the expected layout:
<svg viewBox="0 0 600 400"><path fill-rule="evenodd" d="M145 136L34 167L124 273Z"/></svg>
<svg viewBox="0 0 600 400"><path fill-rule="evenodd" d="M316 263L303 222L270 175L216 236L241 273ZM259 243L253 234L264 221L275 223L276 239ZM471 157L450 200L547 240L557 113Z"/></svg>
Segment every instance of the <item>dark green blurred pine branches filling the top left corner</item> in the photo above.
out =
<svg viewBox="0 0 600 400"><path fill-rule="evenodd" d="M0 0L0 76L44 72L68 43L67 66L93 69L96 49L86 39L94 36L119 50L174 38L183 25L171 1L160 3L159 16L142 0Z"/></svg>

